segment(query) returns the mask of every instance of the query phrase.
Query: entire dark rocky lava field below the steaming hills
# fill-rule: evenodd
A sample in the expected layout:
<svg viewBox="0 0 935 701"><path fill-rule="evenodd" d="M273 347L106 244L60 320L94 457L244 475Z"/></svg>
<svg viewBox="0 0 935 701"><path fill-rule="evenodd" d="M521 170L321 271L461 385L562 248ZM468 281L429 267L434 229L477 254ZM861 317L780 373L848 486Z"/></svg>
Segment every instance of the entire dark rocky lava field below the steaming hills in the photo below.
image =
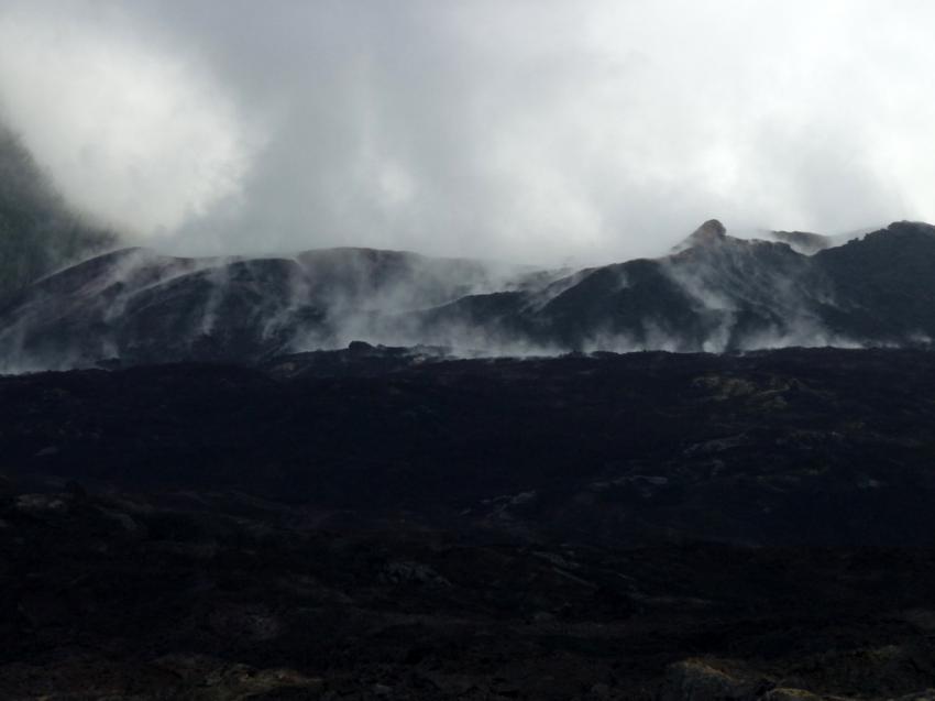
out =
<svg viewBox="0 0 935 701"><path fill-rule="evenodd" d="M935 355L0 379L0 697L935 698Z"/></svg>

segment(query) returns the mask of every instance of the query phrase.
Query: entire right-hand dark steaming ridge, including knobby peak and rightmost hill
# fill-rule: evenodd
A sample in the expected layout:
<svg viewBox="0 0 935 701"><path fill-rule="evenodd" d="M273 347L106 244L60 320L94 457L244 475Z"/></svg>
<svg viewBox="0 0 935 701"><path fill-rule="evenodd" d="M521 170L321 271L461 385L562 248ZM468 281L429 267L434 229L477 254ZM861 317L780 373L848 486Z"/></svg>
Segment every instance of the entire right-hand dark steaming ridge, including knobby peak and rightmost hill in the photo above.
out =
<svg viewBox="0 0 935 701"><path fill-rule="evenodd" d="M541 289L458 300L447 328L576 350L733 351L905 346L935 336L935 228L898 222L814 255L703 224L660 259L583 271ZM466 329L466 330L465 330Z"/></svg>

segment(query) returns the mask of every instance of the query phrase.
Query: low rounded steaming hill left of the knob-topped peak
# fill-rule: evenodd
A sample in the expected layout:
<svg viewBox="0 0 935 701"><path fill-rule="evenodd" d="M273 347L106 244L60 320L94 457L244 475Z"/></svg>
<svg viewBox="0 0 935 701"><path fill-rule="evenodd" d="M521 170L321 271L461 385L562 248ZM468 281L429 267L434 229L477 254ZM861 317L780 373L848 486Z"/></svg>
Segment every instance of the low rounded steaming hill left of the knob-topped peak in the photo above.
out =
<svg viewBox="0 0 935 701"><path fill-rule="evenodd" d="M541 275L370 249L268 259L125 249L40 280L13 298L0 311L0 372L112 358L249 362L384 332L416 342L418 319L406 313L535 286Z"/></svg>

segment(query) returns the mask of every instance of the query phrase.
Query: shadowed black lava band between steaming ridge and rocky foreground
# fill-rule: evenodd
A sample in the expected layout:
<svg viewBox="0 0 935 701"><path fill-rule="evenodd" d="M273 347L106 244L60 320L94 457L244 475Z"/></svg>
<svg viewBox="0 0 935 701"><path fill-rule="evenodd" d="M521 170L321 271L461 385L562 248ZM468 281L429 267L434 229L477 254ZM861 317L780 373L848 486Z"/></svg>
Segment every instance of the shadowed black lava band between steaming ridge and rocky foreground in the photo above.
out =
<svg viewBox="0 0 935 701"><path fill-rule="evenodd" d="M921 350L452 360L355 347L262 369L6 377L0 446L25 475L237 489L363 523L408 512L600 543L924 546L933 391Z"/></svg>

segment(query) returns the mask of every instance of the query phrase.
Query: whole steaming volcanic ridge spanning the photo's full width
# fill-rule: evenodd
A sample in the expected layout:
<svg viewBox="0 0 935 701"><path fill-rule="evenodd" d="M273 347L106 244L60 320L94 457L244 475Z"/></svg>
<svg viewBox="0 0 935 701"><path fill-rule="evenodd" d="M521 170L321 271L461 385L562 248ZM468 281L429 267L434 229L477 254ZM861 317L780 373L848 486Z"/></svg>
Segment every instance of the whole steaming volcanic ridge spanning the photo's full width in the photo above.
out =
<svg viewBox="0 0 935 701"><path fill-rule="evenodd" d="M777 232L776 238L792 234ZM898 222L814 254L727 236L569 272L370 249L176 259L132 249L0 310L0 371L119 358L255 362L360 339L487 354L914 346L935 337L935 228Z"/></svg>

